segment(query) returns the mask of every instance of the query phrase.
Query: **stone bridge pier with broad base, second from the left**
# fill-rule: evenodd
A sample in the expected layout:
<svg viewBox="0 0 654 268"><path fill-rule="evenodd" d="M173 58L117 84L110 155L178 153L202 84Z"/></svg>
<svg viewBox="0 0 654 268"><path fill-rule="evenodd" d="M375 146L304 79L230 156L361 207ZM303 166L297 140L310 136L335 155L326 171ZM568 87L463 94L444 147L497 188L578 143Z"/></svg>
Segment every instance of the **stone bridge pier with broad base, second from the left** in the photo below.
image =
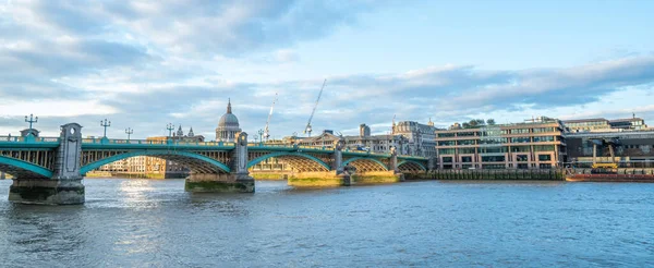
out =
<svg viewBox="0 0 654 268"><path fill-rule="evenodd" d="M237 136L229 174L191 174L184 188L194 193L254 193L254 179L247 171L247 133Z"/></svg>

